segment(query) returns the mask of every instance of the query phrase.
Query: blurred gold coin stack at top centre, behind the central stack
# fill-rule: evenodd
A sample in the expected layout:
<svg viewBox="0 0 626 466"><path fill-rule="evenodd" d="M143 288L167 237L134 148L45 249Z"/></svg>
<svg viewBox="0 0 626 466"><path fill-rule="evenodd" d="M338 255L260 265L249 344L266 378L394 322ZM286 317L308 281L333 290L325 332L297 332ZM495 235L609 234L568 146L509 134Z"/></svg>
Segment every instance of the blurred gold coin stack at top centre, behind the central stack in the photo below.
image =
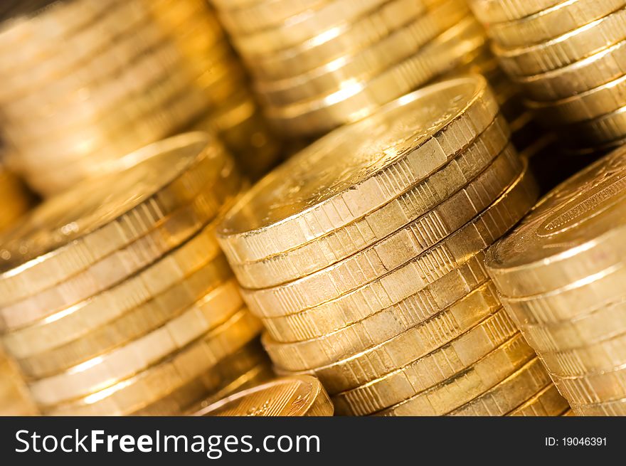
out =
<svg viewBox="0 0 626 466"><path fill-rule="evenodd" d="M465 0L213 0L282 132L360 120L484 46Z"/></svg>

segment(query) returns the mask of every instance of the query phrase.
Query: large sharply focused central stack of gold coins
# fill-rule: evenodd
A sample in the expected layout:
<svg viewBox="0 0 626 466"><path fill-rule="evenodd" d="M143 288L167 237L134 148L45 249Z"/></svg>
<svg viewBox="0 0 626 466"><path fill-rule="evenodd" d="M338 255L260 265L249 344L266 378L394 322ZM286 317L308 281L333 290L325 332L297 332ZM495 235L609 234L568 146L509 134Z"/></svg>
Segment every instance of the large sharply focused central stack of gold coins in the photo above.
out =
<svg viewBox="0 0 626 466"><path fill-rule="evenodd" d="M484 250L536 201L484 78L405 95L265 176L218 240L280 374L339 414L558 415Z"/></svg>

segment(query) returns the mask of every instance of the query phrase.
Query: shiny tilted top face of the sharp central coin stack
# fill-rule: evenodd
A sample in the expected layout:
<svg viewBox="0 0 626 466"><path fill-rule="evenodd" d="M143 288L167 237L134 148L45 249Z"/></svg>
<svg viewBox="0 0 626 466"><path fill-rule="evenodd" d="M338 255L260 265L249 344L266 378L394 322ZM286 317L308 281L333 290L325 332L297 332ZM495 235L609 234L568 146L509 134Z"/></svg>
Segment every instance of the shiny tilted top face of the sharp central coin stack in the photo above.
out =
<svg viewBox="0 0 626 466"><path fill-rule="evenodd" d="M319 139L254 186L230 211L223 233L284 222L339 198L419 147L463 112L481 86L470 79L442 83Z"/></svg>

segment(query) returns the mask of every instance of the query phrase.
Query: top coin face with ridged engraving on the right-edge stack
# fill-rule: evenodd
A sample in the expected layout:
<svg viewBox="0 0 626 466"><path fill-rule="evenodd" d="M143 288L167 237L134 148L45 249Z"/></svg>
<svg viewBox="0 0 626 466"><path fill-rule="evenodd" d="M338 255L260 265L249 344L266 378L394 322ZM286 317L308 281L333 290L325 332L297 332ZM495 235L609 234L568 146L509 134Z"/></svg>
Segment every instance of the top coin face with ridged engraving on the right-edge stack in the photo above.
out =
<svg viewBox="0 0 626 466"><path fill-rule="evenodd" d="M489 266L512 269L575 255L623 226L626 148L617 149L544 197L524 223L490 250Z"/></svg>

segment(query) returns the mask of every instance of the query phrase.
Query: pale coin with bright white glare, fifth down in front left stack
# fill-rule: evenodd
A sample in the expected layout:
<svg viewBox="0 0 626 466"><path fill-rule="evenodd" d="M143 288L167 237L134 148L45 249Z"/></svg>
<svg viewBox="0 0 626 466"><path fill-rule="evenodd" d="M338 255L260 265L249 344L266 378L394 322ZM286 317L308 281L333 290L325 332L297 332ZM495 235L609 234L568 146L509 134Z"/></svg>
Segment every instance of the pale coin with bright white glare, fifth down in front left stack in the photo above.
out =
<svg viewBox="0 0 626 466"><path fill-rule="evenodd" d="M31 381L28 388L33 400L41 406L52 406L97 393L139 374L207 332L222 332L233 325L241 325L240 322L247 322L250 327L257 326L257 321L249 315L247 309L238 312L235 312L236 309L218 310L215 312L215 309L193 307L163 327L107 354L60 374Z"/></svg>

